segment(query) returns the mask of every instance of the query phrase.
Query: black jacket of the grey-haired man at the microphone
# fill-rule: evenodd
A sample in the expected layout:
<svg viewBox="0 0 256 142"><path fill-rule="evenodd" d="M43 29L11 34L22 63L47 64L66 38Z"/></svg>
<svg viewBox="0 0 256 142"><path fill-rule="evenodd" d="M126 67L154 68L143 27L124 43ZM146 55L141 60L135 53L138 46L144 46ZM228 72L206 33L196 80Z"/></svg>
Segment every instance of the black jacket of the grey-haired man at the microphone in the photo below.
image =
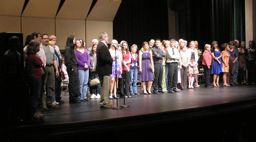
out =
<svg viewBox="0 0 256 142"><path fill-rule="evenodd" d="M96 74L110 75L112 73L113 59L111 58L108 47L104 43L100 42L97 45L96 55L97 55Z"/></svg>

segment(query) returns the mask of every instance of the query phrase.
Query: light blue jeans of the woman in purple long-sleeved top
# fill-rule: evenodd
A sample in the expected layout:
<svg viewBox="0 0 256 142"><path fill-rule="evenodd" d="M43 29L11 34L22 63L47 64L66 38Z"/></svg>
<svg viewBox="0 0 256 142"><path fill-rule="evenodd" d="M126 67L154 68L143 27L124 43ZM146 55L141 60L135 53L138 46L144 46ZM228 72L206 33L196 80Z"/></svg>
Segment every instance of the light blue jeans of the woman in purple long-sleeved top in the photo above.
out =
<svg viewBox="0 0 256 142"><path fill-rule="evenodd" d="M79 95L78 99L86 99L88 80L89 80L89 69L87 70L78 70L78 79L79 79Z"/></svg>

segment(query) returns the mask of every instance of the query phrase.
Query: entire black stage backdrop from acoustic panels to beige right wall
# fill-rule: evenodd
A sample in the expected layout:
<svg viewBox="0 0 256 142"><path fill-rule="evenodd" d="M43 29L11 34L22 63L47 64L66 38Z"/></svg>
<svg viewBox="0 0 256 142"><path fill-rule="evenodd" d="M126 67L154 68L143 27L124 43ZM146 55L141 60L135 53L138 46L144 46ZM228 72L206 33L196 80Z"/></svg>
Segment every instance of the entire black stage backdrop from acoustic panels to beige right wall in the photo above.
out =
<svg viewBox="0 0 256 142"><path fill-rule="evenodd" d="M169 16L168 10L172 11ZM235 39L243 41L245 1L122 0L113 21L113 38L139 48L151 38L197 40L199 49L213 40L219 46Z"/></svg>

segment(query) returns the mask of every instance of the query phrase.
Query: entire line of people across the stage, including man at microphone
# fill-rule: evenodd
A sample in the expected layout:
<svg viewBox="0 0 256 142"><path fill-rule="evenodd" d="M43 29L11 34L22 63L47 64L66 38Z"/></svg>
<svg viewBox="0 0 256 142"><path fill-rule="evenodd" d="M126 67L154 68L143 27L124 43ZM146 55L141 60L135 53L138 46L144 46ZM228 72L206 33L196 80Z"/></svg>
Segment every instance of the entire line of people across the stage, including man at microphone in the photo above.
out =
<svg viewBox="0 0 256 142"><path fill-rule="evenodd" d="M15 49L7 51L4 57L13 53L12 58L21 59L20 54L15 51L18 47L12 43L16 40L19 39L15 37L9 40ZM152 39L143 42L139 51L136 44L133 44L129 51L126 41L118 44L117 40L112 40L108 48L109 37L106 32L99 33L99 40L100 42L94 39L93 46L86 50L86 44L82 39L68 36L62 57L55 36L38 32L27 35L23 49L25 64L21 65L25 65L24 74L30 94L29 113L32 118L42 118L42 111L64 103L61 100L61 76L63 80L69 81L70 103L100 98L100 108L112 108L113 104L108 100L118 98L117 89L120 91L120 97L130 98L131 95L139 95L137 79L141 82L142 93L145 95L152 94L152 85L154 94L174 93L199 87L197 74L201 53L197 41L190 41L187 47L187 41L183 39ZM249 41L248 48L245 47L245 42L241 42L240 46L238 40L224 43L221 48L213 41L212 48L206 44L204 49L202 66L205 87L220 87L219 78L222 72L223 86L238 84L237 75L241 84L245 84L246 69L249 84L255 83L254 41ZM9 70L17 72L17 69ZM94 79L98 79L100 83L89 85L88 95L88 82ZM44 95L45 106L42 100Z"/></svg>

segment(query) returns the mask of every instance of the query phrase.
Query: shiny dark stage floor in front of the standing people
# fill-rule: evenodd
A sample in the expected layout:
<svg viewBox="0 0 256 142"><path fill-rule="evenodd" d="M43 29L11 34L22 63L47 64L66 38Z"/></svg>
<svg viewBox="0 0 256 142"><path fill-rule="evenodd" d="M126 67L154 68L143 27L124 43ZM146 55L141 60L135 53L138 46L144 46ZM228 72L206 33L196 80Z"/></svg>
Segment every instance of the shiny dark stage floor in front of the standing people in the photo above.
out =
<svg viewBox="0 0 256 142"><path fill-rule="evenodd" d="M256 98L255 85L212 88L205 88L203 86L204 84L199 88L182 90L181 92L172 94L132 95L131 98L125 98L125 104L129 105L129 107L119 110L100 109L100 99L90 99L89 101L78 104L69 104L68 93L64 95L64 92L62 92L61 96L65 101L64 104L59 104L58 108L45 111L44 118L31 120L24 125L47 125L106 120L166 111L193 109ZM138 90L141 92L140 87L138 87ZM113 103L113 106L116 107L116 99L109 100L109 102ZM118 98L118 106L123 104L124 99Z"/></svg>

